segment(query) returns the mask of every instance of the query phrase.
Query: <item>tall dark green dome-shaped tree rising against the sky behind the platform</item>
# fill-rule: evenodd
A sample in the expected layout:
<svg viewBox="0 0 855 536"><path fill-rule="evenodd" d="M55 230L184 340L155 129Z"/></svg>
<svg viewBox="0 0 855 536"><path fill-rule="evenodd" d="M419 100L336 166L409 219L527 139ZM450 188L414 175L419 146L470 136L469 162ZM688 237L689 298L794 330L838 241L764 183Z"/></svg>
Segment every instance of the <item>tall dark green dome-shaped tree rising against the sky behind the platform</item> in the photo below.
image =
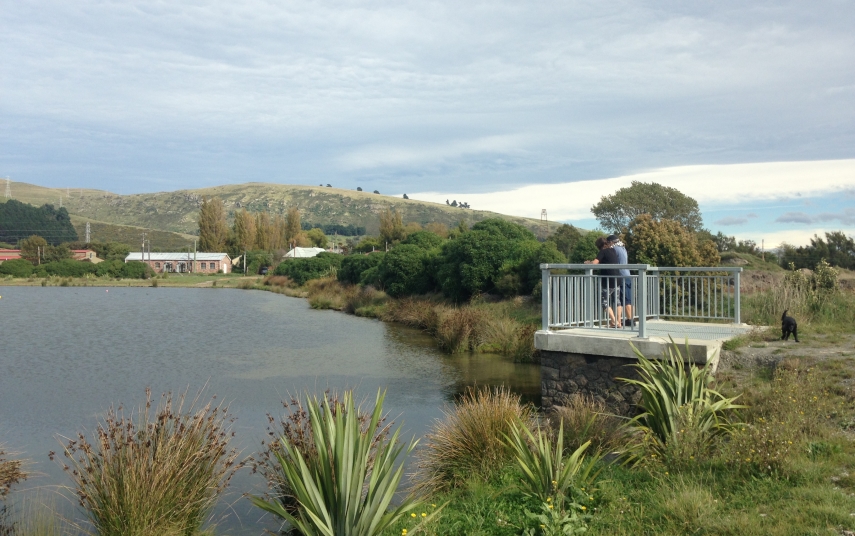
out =
<svg viewBox="0 0 855 536"><path fill-rule="evenodd" d="M604 229L623 232L642 214L654 220L674 220L689 231L697 232L703 226L698 202L679 190L656 184L632 181L632 186L621 188L591 207Z"/></svg>

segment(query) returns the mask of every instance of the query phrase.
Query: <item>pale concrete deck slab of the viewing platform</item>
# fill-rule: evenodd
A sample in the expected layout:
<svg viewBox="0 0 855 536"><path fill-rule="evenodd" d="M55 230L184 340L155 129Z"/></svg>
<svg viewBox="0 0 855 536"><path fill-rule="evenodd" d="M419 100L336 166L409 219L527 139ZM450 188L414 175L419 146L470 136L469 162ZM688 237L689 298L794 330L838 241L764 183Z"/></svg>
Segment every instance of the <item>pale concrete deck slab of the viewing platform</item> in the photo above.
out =
<svg viewBox="0 0 855 536"><path fill-rule="evenodd" d="M584 354L592 356L635 358L632 343L649 358L663 355L674 339L681 351L686 344L689 355L683 358L697 364L718 361L724 341L738 337L753 329L746 324L705 324L701 322L670 322L649 320L645 339L629 328L597 329L571 328L555 331L538 331L534 335L534 346L538 350ZM688 341L687 341L688 339Z"/></svg>

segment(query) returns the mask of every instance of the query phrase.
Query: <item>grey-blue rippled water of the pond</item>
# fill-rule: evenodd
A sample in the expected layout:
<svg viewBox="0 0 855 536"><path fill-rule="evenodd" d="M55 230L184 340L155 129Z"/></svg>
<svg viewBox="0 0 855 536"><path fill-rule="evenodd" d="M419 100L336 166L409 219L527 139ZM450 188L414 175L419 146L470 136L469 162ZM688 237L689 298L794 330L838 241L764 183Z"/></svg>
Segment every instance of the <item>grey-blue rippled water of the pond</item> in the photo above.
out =
<svg viewBox="0 0 855 536"><path fill-rule="evenodd" d="M0 296L0 443L32 461L30 490L70 483L48 460L58 436L91 432L111 404L138 406L146 387L158 395L207 385L229 402L245 454L265 438L266 414L306 390L356 388L373 400L386 389L384 407L404 437L423 436L467 385L506 385L539 403L536 365L448 356L417 330L268 292L0 287ZM233 480L217 533L274 529L240 498L263 491L257 475Z"/></svg>

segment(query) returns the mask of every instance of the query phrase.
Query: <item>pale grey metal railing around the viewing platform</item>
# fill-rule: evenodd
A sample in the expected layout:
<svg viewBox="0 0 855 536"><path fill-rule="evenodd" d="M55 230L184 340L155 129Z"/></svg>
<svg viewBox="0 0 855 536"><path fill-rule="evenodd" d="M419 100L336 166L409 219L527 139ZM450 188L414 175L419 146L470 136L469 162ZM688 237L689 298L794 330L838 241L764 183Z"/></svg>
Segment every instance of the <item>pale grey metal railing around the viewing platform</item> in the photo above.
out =
<svg viewBox="0 0 855 536"><path fill-rule="evenodd" d="M739 267L541 264L540 268L544 330L617 328L646 338L650 319L741 322ZM603 275L604 270L628 270L629 276Z"/></svg>

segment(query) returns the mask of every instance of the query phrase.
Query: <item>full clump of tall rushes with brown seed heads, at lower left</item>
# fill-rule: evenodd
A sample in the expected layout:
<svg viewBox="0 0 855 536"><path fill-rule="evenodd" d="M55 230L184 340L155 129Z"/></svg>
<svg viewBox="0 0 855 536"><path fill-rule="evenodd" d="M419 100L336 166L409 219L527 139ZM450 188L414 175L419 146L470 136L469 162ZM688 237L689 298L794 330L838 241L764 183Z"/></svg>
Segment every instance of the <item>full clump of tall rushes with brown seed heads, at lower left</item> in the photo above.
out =
<svg viewBox="0 0 855 536"><path fill-rule="evenodd" d="M80 505L101 536L197 534L235 471L237 452L228 408L186 403L186 392L146 403L126 417L107 411L94 440L64 444L64 469Z"/></svg>

